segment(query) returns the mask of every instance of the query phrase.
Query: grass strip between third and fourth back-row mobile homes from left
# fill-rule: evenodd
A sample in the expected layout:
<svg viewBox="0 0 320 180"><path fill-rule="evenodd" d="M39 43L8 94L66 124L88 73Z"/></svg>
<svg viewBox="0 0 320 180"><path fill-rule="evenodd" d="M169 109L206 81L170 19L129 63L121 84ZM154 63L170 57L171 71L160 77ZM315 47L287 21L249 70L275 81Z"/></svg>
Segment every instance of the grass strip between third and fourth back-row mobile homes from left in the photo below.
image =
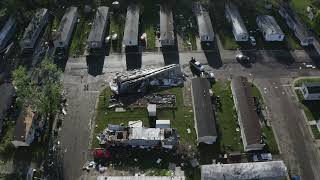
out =
<svg viewBox="0 0 320 180"><path fill-rule="evenodd" d="M76 30L73 34L69 49L70 56L83 55L86 47L86 41L91 30L91 26L89 25L91 21L93 21L93 19L90 15L80 15L80 22L76 25Z"/></svg>

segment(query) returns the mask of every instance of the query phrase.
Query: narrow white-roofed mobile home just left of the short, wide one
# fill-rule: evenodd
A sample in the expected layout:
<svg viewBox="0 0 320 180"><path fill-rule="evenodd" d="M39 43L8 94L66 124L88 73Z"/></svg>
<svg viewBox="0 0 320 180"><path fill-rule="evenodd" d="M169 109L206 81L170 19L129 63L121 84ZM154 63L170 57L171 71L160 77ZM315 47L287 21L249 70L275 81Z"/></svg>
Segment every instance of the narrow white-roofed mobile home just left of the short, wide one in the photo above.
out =
<svg viewBox="0 0 320 180"><path fill-rule="evenodd" d="M236 41L248 41L249 33L237 7L233 3L226 3L225 13L227 20L232 24L232 32Z"/></svg>

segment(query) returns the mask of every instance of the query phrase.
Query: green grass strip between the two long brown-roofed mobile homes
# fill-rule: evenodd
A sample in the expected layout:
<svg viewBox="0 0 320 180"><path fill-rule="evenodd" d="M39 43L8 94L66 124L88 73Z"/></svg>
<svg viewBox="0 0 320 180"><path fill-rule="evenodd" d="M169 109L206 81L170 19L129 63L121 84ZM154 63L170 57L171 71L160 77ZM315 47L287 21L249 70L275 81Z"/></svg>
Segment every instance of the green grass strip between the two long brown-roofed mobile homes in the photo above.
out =
<svg viewBox="0 0 320 180"><path fill-rule="evenodd" d="M230 82L216 82L212 89L215 96L220 96L222 104L221 109L216 113L220 149L222 152L243 151L240 131L236 131L238 119Z"/></svg>

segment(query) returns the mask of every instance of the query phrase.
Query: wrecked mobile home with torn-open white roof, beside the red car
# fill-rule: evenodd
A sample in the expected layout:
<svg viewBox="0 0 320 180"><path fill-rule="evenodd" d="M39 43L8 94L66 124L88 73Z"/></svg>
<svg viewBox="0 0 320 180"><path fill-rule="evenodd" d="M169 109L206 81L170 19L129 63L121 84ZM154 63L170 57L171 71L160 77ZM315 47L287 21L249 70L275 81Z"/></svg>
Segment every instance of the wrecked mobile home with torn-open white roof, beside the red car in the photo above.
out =
<svg viewBox="0 0 320 180"><path fill-rule="evenodd" d="M140 148L162 147L172 149L179 144L176 129L146 128L142 123L124 127L111 125L97 136L101 145L132 146Z"/></svg>

